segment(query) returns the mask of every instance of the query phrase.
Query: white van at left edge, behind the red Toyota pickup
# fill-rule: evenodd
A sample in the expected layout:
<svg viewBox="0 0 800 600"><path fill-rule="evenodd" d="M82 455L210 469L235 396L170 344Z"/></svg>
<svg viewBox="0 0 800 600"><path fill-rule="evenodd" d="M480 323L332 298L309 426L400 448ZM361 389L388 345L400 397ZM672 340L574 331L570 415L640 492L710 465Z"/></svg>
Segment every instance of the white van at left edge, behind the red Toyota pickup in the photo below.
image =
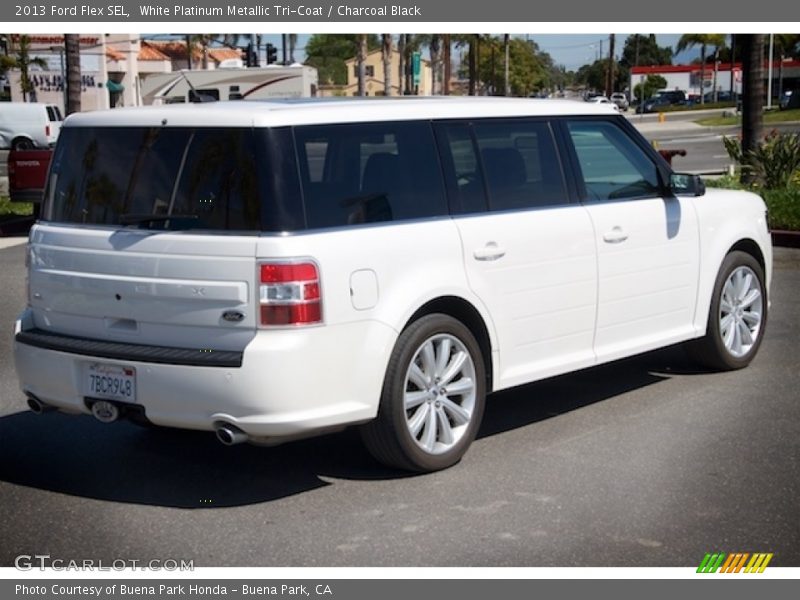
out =
<svg viewBox="0 0 800 600"><path fill-rule="evenodd" d="M56 143L61 109L41 102L0 102L0 148L29 150Z"/></svg>

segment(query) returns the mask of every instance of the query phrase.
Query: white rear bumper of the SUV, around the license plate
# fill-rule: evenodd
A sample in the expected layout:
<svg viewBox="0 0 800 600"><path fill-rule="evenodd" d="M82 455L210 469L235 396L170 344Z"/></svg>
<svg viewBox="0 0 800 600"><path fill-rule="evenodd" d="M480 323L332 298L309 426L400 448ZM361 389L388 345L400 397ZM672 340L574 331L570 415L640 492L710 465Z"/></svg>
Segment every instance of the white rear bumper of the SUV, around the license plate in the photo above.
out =
<svg viewBox="0 0 800 600"><path fill-rule="evenodd" d="M156 425L210 431L228 423L265 441L374 418L397 336L375 321L259 331L235 367L99 357L80 343L71 350L34 345L41 333L28 311L16 333L20 387L46 404L88 414L88 365L125 366L136 371L135 403Z"/></svg>

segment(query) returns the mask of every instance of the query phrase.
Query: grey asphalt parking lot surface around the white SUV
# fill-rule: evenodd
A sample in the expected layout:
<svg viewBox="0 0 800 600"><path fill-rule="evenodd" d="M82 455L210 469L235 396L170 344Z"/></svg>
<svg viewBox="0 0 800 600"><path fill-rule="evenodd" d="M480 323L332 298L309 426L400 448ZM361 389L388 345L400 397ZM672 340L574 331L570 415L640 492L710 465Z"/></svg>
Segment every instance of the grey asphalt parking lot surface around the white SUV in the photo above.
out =
<svg viewBox="0 0 800 600"><path fill-rule="evenodd" d="M352 431L228 448L30 413L11 357L23 256L0 249L0 566L800 566L799 250L776 250L748 369L697 372L671 348L500 393L466 458L425 476L379 466Z"/></svg>

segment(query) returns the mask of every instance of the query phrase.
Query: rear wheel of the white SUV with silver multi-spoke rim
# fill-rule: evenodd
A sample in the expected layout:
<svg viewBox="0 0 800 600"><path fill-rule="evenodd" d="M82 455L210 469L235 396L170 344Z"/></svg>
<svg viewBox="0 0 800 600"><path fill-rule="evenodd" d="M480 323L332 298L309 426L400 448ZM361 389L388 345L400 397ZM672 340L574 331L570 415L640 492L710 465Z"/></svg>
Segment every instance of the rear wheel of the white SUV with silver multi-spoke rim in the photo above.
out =
<svg viewBox="0 0 800 600"><path fill-rule="evenodd" d="M440 369L440 365L454 367L462 358L461 353L467 356L458 377L441 382L438 377L435 381L429 379L428 389L423 390L413 381L411 369L414 362L420 372L425 371L423 348L428 344L433 352L428 356L447 357L446 363L435 361L436 373L446 374L451 369ZM467 390L470 382L471 390L459 394L461 389ZM453 386L449 392L448 385ZM456 387L459 391L453 391ZM413 394L427 399L407 409L406 401L411 401ZM361 437L370 453L387 466L423 473L446 469L461 460L475 439L485 403L486 367L475 337L463 323L448 315L426 315L400 334L386 370L378 416L361 427ZM413 423L422 412L427 417L416 419L423 424L414 434ZM460 423L467 413L468 420ZM426 442L431 441L429 432L435 439L430 450L425 448Z"/></svg>

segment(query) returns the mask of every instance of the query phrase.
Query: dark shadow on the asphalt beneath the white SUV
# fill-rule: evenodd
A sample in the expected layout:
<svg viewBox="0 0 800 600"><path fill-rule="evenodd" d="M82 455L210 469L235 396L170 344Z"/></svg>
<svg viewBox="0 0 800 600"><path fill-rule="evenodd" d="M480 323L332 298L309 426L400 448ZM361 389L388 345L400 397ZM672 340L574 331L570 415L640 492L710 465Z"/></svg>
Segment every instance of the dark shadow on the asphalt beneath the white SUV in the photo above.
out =
<svg viewBox="0 0 800 600"><path fill-rule="evenodd" d="M492 395L478 437L501 434L663 381L682 352L661 350ZM655 372L654 372L655 371ZM331 485L413 476L373 460L358 432L271 448L222 446L211 432L102 424L89 416L0 417L0 481L111 502L224 508Z"/></svg>

